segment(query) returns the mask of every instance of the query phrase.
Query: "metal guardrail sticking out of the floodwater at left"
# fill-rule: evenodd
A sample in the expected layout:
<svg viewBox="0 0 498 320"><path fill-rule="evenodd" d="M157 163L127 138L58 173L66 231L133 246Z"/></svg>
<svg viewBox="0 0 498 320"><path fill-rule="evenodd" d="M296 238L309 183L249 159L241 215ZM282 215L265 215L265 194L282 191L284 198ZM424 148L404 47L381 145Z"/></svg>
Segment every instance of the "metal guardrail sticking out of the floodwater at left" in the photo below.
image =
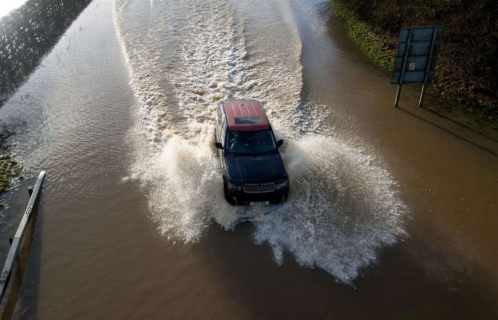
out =
<svg viewBox="0 0 498 320"><path fill-rule="evenodd" d="M36 203L36 200L39 197L41 191L41 184L43 182L44 176L45 176L45 171L41 171L40 174L38 175L38 180L36 180L36 184L34 185L31 197L29 198L28 206L26 208L26 211L24 212L21 223L17 228L17 232L15 233L14 238L11 239L10 250L8 252L7 261L5 261L5 266L3 267L3 271L0 275L0 303L3 299L3 295L5 294L5 290L7 289L8 281L10 279L10 275L12 274L12 270L14 269L16 263L15 258L21 246L24 234L26 233L29 219L31 219L31 216L33 214L33 207Z"/></svg>

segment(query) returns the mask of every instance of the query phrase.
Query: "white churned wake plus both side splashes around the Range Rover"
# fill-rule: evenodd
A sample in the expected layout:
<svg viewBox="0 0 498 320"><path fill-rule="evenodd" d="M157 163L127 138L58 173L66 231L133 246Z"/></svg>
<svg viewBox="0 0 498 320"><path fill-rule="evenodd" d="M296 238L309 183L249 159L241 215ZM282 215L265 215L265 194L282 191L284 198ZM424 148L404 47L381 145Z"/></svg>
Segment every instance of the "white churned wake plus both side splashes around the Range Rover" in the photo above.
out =
<svg viewBox="0 0 498 320"><path fill-rule="evenodd" d="M115 2L115 25L143 118L140 128L154 146L135 170L162 234L194 242L202 241L213 220L227 230L237 227L247 207L224 198L213 113L223 100L250 98L262 102L276 138L285 140L289 199L267 215L256 208L253 219L254 243L269 243L276 263L288 251L303 267L352 283L382 247L405 235L407 209L396 181L369 148L326 127L329 106L302 101L302 66L288 57L288 48L265 37L264 50L249 53L250 31L223 2L186 1L182 25L168 20L167 3L153 2L160 14L139 27L132 4ZM168 32L174 33L169 45L176 53L168 60L174 65L165 67L156 37ZM292 50L299 57L302 44L296 43Z"/></svg>

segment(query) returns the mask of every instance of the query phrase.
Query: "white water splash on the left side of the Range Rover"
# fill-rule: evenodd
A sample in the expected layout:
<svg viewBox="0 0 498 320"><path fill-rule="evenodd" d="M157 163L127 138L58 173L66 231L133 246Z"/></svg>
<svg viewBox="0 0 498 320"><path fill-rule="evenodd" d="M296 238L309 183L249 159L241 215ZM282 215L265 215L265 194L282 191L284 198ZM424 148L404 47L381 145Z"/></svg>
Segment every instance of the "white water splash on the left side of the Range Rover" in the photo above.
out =
<svg viewBox="0 0 498 320"><path fill-rule="evenodd" d="M149 207L159 229L185 242L198 240L212 219L232 229L244 208L231 206L223 193L223 179L212 150L212 125L191 125L197 138L174 136L146 171L150 184Z"/></svg>

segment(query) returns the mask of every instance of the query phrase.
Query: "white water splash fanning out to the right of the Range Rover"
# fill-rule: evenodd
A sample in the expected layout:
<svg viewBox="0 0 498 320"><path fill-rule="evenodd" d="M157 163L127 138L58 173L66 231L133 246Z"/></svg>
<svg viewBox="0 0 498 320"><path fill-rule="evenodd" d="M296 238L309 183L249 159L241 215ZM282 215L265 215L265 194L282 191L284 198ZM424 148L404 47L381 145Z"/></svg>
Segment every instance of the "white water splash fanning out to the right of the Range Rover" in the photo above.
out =
<svg viewBox="0 0 498 320"><path fill-rule="evenodd" d="M310 135L289 143L284 162L289 199L255 221L255 242L269 242L278 264L284 250L309 268L350 283L377 251L404 234L396 183L344 139Z"/></svg>

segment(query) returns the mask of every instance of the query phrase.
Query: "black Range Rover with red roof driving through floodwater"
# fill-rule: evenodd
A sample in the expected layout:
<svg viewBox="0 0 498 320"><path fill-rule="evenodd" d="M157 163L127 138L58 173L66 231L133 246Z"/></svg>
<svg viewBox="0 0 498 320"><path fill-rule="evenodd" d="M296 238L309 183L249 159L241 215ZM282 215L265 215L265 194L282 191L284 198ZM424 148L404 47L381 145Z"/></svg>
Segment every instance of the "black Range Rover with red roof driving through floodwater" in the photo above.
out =
<svg viewBox="0 0 498 320"><path fill-rule="evenodd" d="M289 181L276 141L257 100L227 100L215 115L225 198L232 205L280 204Z"/></svg>

